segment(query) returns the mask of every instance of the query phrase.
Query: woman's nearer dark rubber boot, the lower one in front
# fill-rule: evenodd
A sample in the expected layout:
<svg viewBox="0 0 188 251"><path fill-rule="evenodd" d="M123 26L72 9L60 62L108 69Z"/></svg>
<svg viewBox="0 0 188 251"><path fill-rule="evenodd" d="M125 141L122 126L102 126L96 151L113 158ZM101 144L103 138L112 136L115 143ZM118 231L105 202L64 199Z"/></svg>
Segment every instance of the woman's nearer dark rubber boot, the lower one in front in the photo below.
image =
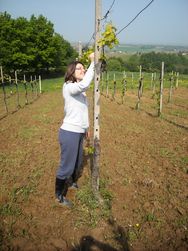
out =
<svg viewBox="0 0 188 251"><path fill-rule="evenodd" d="M56 178L56 182L55 182L56 200L62 206L72 207L73 206L72 202L66 199L67 191L68 191L67 180L66 179L61 180L61 179Z"/></svg>

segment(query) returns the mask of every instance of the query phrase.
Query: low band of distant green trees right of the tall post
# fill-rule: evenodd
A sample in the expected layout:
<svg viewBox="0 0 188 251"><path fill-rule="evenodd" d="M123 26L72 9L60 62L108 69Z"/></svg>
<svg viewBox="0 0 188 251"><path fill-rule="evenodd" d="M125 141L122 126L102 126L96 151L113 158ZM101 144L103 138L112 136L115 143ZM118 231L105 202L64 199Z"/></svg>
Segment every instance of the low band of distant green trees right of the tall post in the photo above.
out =
<svg viewBox="0 0 188 251"><path fill-rule="evenodd" d="M138 72L139 65L145 72L160 72L161 62L165 62L165 72L179 72L188 74L188 57L182 53L149 52L143 54L109 57L107 69L109 71Z"/></svg>

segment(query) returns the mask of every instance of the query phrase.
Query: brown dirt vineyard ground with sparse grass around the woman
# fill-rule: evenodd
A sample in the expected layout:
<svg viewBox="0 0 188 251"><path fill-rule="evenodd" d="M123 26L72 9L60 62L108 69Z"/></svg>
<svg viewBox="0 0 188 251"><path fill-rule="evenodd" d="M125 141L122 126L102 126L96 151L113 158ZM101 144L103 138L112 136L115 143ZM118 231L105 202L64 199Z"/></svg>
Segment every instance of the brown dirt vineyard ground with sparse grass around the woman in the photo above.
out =
<svg viewBox="0 0 188 251"><path fill-rule="evenodd" d="M55 202L61 92L43 93L0 120L0 250L187 250L187 89L175 97L164 99L158 118L149 92L139 111L135 93L124 104L101 96L104 210L89 204L87 153L79 192L68 192L73 209ZM92 115L91 93L89 100Z"/></svg>

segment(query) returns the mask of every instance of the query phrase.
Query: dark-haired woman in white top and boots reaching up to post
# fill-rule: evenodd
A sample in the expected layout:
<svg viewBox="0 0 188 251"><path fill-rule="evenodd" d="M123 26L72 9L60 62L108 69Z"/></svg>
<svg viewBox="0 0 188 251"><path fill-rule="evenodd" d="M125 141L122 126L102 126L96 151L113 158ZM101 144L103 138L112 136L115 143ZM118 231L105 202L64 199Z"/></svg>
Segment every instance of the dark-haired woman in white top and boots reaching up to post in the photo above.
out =
<svg viewBox="0 0 188 251"><path fill-rule="evenodd" d="M89 56L87 70L81 62L71 63L63 85L65 117L59 130L61 162L56 174L55 195L61 205L72 206L66 199L70 179L77 188L78 173L82 165L83 139L89 127L88 104L85 91L94 76L94 53Z"/></svg>

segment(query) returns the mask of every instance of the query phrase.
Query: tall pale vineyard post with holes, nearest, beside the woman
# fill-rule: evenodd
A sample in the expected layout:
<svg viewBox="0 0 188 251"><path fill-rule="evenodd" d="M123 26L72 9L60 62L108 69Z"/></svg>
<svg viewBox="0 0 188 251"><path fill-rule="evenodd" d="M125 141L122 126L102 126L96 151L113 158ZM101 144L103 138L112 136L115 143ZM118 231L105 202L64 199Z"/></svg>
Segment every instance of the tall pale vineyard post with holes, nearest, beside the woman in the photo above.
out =
<svg viewBox="0 0 188 251"><path fill-rule="evenodd" d="M101 0L95 0L95 74L94 74L94 133L93 133L93 164L91 166L91 183L95 197L100 201L99 195L99 165L100 165L100 47L98 40L100 38L100 20L101 20Z"/></svg>

